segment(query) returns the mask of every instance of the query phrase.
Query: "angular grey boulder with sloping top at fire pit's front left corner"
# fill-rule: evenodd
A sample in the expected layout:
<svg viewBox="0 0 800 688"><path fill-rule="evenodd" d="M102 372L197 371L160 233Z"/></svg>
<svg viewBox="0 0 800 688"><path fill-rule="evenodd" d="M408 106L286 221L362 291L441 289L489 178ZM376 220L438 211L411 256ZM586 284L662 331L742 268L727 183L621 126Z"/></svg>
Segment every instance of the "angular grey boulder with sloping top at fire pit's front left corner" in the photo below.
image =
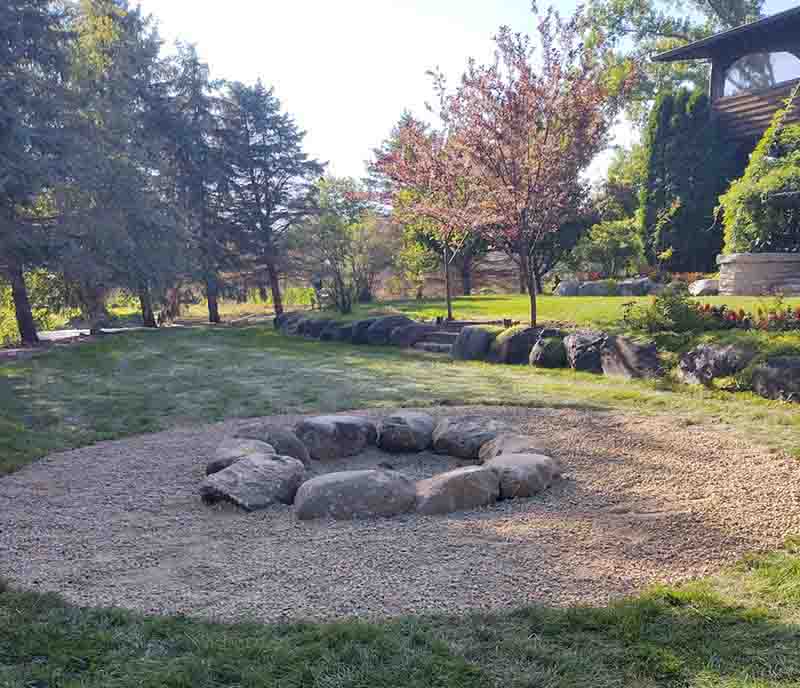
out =
<svg viewBox="0 0 800 688"><path fill-rule="evenodd" d="M247 511L291 504L303 476L303 464L297 459L255 454L206 478L200 496L209 503L233 502Z"/></svg>

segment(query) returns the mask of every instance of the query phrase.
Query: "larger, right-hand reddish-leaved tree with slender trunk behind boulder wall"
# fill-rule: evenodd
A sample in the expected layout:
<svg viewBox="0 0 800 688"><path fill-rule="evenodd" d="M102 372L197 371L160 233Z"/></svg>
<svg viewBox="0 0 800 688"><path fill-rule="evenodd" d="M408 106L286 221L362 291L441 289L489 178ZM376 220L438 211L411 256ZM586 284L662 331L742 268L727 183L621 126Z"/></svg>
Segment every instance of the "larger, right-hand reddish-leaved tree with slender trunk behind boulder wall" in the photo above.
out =
<svg viewBox="0 0 800 688"><path fill-rule="evenodd" d="M444 119L459 132L461 168L476 177L478 225L520 266L536 324L537 251L588 198L582 173L606 145L630 79L606 69L605 49L582 42L584 17L540 19L538 49L500 29L497 56L471 62L457 91L443 99Z"/></svg>

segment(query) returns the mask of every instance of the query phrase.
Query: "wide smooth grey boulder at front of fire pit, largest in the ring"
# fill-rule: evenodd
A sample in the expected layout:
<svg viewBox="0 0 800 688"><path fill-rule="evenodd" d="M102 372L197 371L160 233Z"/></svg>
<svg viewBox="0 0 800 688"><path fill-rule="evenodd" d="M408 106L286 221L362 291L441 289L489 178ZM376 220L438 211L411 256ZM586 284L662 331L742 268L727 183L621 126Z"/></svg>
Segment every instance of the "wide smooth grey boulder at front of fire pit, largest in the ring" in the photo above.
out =
<svg viewBox="0 0 800 688"><path fill-rule="evenodd" d="M297 517L353 519L411 511L414 483L394 471L343 471L303 483L294 500Z"/></svg>

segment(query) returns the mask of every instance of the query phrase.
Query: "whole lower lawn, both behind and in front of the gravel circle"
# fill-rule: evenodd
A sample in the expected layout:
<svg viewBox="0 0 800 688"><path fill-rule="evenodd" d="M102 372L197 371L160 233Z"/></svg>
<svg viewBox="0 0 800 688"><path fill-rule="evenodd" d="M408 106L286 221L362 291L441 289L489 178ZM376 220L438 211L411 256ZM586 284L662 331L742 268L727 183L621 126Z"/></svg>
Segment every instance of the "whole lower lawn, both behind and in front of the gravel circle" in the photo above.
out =
<svg viewBox="0 0 800 688"><path fill-rule="evenodd" d="M749 394L452 363L251 326L114 335L0 364L0 462L10 471L57 449L228 417L442 403L666 413L800 456L798 407ZM150 618L0 584L2 688L788 688L800 685L798 648L796 542L605 608L380 624Z"/></svg>

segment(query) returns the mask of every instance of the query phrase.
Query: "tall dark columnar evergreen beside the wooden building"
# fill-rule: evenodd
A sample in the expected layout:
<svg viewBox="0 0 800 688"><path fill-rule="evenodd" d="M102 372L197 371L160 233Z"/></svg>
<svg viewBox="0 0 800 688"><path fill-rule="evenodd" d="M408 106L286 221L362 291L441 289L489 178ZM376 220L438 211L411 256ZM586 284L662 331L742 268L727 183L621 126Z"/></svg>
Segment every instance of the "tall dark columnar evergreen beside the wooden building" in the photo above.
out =
<svg viewBox="0 0 800 688"><path fill-rule="evenodd" d="M664 267L710 272L722 248L714 208L741 172L736 151L710 116L699 89L661 93L645 132L646 178L639 221L652 260L672 249Z"/></svg>

